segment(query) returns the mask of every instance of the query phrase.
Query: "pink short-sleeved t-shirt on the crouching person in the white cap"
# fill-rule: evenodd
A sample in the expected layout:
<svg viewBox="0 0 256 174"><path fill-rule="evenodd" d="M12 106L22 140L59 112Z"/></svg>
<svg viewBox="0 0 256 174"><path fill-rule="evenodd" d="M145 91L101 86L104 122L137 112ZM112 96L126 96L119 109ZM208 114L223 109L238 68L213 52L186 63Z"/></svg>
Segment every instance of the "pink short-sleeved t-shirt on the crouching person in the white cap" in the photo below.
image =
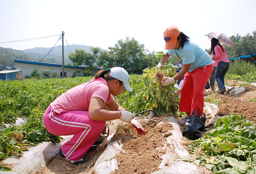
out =
<svg viewBox="0 0 256 174"><path fill-rule="evenodd" d="M61 94L50 105L59 114L68 111L88 111L92 97L99 97L104 105L114 100L109 93L108 84L103 78L93 78L90 82L80 84Z"/></svg>

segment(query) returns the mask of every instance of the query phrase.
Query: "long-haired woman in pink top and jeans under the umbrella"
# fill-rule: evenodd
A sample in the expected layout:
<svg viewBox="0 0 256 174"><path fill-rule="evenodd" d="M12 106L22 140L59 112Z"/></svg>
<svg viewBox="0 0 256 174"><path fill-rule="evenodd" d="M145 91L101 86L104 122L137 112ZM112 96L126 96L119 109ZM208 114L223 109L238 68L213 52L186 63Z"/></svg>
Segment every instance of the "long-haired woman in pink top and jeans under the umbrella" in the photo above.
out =
<svg viewBox="0 0 256 174"><path fill-rule="evenodd" d="M210 56L214 58L216 71L214 78L218 84L219 91L217 93L223 94L226 91L224 84L224 77L229 69L229 60L225 48L220 45L216 38L211 39Z"/></svg>

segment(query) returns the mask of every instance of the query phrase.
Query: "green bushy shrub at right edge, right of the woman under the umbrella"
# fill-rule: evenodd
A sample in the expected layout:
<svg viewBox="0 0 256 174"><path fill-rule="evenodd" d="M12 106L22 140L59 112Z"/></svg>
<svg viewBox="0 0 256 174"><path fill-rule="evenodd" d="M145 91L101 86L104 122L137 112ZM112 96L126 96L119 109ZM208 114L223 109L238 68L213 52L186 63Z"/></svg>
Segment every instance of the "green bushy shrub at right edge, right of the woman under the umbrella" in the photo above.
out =
<svg viewBox="0 0 256 174"><path fill-rule="evenodd" d="M252 63L243 60L235 60L230 62L228 69L229 74L244 75L249 72L256 72L256 67Z"/></svg>

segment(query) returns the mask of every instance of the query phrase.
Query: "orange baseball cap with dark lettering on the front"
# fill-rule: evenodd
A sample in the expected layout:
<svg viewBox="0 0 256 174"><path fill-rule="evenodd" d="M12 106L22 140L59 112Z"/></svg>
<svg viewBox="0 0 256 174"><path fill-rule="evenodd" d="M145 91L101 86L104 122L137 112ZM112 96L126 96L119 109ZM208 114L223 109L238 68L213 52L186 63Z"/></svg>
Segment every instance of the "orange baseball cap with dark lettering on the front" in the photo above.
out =
<svg viewBox="0 0 256 174"><path fill-rule="evenodd" d="M178 27L176 26L169 26L164 30L164 40L165 46L164 49L174 49L177 37L179 36L180 32Z"/></svg>

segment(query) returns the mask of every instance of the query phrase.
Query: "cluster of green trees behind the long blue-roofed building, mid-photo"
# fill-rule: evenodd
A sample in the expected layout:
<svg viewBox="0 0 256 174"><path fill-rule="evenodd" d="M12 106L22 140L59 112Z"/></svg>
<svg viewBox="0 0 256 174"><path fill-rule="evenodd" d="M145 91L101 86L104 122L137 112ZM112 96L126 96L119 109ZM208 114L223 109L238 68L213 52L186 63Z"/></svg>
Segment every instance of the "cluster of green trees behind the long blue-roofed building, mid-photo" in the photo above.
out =
<svg viewBox="0 0 256 174"><path fill-rule="evenodd" d="M118 40L113 47L108 47L109 51L100 47L91 47L90 52L84 49L75 49L74 53L69 53L69 60L75 66L85 66L86 72L95 73L98 69L108 69L112 67L122 67L129 74L142 74L142 70L158 64L160 58L156 53L145 49L144 44L140 44L134 38L126 37L125 40Z"/></svg>

